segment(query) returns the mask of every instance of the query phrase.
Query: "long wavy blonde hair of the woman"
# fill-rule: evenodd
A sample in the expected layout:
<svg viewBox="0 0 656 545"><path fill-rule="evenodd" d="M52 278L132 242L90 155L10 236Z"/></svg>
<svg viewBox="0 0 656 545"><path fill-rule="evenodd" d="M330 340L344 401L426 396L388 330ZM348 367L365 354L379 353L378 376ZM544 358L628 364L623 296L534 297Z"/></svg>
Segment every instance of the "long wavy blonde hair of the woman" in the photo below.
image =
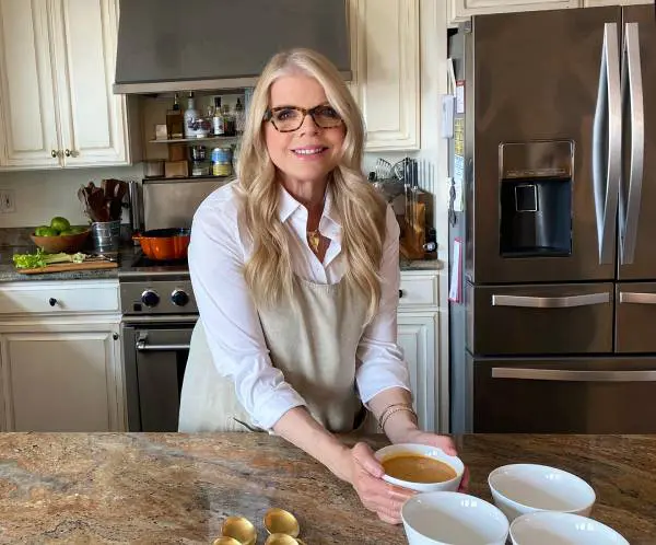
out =
<svg viewBox="0 0 656 545"><path fill-rule="evenodd" d="M316 79L330 105L343 119L345 136L338 165L329 174L335 207L342 221L344 280L368 301L367 322L380 300L378 274L385 240L386 204L361 172L364 124L358 105L335 66L309 49L276 55L265 67L250 102L238 162L242 213L253 241L253 255L244 276L256 304L276 303L293 292L293 272L285 228L278 216L279 186L269 158L262 118L269 107L269 89L280 77L306 73Z"/></svg>

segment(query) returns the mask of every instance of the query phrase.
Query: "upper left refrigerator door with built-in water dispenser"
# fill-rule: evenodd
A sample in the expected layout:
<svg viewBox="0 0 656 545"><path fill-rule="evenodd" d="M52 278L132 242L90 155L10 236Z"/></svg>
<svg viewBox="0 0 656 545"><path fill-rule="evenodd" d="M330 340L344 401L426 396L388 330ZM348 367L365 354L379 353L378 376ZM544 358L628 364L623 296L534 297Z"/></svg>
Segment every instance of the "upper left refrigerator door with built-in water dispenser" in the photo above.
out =
<svg viewBox="0 0 656 545"><path fill-rule="evenodd" d="M605 25L619 33L621 14L621 8L600 8L473 19L466 81L473 104L465 114L473 135L473 190L466 202L473 247L466 255L477 285L614 278L617 205L599 223L593 148L595 132L606 142L612 128L601 123L595 130L595 114L599 89L607 89ZM609 62L619 92L619 65ZM609 149L598 149L604 202Z"/></svg>

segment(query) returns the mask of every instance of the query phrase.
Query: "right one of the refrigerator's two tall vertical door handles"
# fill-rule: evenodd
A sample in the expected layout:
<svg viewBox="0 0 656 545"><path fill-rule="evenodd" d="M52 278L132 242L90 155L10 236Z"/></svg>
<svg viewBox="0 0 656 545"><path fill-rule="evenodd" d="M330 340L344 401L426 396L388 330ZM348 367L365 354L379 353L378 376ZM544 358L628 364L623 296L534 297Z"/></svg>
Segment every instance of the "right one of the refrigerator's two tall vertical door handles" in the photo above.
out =
<svg viewBox="0 0 656 545"><path fill-rule="evenodd" d="M620 259L622 265L630 265L635 255L645 163L644 96L637 23L624 25L622 102L624 112L629 111L631 115L631 163L628 197L624 195L625 184L622 183L620 187Z"/></svg>

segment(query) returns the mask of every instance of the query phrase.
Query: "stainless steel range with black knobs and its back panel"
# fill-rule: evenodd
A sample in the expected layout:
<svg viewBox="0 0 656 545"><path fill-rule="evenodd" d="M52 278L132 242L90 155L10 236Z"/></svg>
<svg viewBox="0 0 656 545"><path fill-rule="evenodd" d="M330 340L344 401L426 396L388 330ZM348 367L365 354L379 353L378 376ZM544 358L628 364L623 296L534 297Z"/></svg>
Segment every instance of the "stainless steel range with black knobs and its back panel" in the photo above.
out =
<svg viewBox="0 0 656 545"><path fill-rule="evenodd" d="M198 205L224 182L144 181L144 228L190 227ZM137 251L119 272L128 429L177 431L179 396L198 308L189 267Z"/></svg>

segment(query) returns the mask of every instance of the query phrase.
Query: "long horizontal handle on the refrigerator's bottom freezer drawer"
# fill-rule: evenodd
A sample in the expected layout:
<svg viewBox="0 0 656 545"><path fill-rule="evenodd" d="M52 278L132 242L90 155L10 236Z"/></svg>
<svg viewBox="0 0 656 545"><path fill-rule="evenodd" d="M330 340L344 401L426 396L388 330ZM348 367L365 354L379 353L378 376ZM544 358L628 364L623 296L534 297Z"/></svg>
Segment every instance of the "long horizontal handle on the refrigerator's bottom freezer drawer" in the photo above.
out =
<svg viewBox="0 0 656 545"><path fill-rule="evenodd" d="M495 367L492 368L492 379L555 382L656 382L656 371L567 371Z"/></svg>

